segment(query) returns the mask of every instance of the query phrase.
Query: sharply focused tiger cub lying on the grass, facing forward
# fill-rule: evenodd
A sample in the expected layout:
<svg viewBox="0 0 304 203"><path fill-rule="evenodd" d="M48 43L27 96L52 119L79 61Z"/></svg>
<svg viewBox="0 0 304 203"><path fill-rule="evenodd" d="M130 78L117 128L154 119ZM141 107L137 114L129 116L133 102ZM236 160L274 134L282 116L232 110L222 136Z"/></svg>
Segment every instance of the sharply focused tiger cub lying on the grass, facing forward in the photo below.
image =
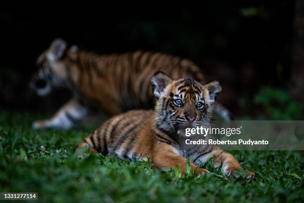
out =
<svg viewBox="0 0 304 203"><path fill-rule="evenodd" d="M174 168L179 165L183 173L186 158L194 171L200 161L206 162L215 156L214 165L227 176L242 169L235 158L215 145L207 145L181 153L179 137L187 127L207 126L212 105L222 87L218 81L206 85L186 78L171 80L166 74L157 72L152 77L152 89L156 97L154 111L132 110L114 116L99 129L86 137L77 147L90 146L93 153L116 154L119 158L150 158L154 167ZM184 155L186 154L186 155ZM199 168L197 173L208 171ZM250 176L253 172L246 171Z"/></svg>

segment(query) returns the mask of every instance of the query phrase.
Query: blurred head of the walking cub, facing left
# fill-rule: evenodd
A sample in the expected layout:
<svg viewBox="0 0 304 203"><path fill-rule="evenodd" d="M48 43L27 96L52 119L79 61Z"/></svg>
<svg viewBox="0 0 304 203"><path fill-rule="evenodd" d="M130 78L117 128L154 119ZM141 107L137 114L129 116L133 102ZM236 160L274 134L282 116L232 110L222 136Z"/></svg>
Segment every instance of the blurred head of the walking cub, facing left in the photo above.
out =
<svg viewBox="0 0 304 203"><path fill-rule="evenodd" d="M64 87L63 80L67 43L55 39L51 46L37 60L38 71L30 82L30 87L39 96L48 95L55 87Z"/></svg>

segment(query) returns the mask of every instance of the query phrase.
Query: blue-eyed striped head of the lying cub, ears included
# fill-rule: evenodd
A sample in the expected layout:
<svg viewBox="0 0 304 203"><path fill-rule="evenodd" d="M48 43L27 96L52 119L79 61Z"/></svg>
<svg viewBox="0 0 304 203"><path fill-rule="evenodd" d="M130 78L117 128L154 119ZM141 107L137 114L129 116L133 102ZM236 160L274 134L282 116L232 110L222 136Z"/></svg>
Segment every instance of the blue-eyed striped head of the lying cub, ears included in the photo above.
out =
<svg viewBox="0 0 304 203"><path fill-rule="evenodd" d="M190 78L171 80L162 72L152 77L156 97L156 125L167 133L209 124L212 104L222 87L219 81L202 85Z"/></svg>

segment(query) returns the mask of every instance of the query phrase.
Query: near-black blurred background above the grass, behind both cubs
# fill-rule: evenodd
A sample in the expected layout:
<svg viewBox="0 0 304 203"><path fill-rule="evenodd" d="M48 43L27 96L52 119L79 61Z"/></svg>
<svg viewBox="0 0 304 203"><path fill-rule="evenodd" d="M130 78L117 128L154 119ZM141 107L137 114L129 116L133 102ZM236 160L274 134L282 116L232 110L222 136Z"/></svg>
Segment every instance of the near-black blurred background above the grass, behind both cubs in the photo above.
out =
<svg viewBox="0 0 304 203"><path fill-rule="evenodd" d="M100 54L142 49L188 58L208 81L223 83L219 100L235 115L271 113L266 105L278 102L256 102L261 95L283 94L302 109L301 91L293 88L297 1L185 3L0 10L0 109L53 113L69 99L64 90L40 98L28 86L37 57L57 37ZM286 105L279 101L278 108Z"/></svg>

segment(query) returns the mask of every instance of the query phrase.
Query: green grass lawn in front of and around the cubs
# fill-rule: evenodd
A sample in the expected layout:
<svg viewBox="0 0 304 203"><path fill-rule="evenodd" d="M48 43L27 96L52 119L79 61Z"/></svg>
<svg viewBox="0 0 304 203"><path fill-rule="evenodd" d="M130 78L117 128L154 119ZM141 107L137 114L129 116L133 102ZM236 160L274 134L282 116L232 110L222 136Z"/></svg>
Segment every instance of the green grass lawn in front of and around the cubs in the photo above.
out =
<svg viewBox="0 0 304 203"><path fill-rule="evenodd" d="M180 176L148 162L90 155L79 160L77 143L95 127L32 130L39 115L0 111L0 192L37 192L40 202L304 202L302 151L235 151L256 173L226 178Z"/></svg>

